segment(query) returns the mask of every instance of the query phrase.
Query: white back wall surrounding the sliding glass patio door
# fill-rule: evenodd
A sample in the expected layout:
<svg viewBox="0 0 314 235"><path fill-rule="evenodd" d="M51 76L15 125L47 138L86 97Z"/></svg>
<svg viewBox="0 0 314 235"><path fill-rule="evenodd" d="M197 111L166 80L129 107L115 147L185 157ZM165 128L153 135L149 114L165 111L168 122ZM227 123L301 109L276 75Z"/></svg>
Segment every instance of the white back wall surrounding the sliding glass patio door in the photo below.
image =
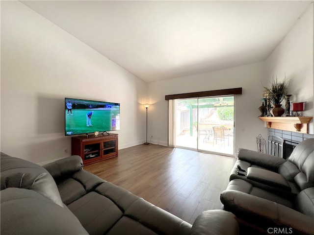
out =
<svg viewBox="0 0 314 235"><path fill-rule="evenodd" d="M235 100L235 149L256 149L256 137L267 136L264 123L257 118L262 105L262 81L264 63L255 63L227 70L195 74L187 77L163 80L148 84L149 107L148 136L154 143L167 144L168 141L168 101L167 94L211 91L242 87L242 94Z"/></svg>

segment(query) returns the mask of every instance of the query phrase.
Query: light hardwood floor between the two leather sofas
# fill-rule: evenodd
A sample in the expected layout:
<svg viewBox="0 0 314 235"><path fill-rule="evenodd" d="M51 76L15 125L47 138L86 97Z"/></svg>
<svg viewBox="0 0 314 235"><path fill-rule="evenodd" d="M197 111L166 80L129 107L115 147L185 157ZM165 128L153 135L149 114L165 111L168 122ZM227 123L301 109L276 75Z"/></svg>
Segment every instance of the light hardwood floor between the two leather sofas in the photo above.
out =
<svg viewBox="0 0 314 235"><path fill-rule="evenodd" d="M220 192L228 185L235 161L232 157L141 144L84 169L192 224L202 211L221 208Z"/></svg>

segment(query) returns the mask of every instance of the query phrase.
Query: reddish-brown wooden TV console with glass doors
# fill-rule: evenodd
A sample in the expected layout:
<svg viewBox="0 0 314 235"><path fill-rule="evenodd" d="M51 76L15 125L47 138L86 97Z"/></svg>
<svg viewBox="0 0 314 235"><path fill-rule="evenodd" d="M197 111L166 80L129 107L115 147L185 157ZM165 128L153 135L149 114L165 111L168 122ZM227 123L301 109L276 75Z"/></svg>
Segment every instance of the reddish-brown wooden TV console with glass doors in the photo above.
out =
<svg viewBox="0 0 314 235"><path fill-rule="evenodd" d="M79 155L83 164L92 164L118 156L118 134L72 137L72 155Z"/></svg>

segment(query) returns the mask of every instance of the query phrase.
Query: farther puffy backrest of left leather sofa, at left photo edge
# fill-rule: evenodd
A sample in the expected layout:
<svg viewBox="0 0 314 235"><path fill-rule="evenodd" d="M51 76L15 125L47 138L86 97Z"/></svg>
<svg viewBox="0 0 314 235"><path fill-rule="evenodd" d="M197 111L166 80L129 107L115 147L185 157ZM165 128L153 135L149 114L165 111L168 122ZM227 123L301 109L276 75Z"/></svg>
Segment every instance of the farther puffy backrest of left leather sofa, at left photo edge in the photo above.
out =
<svg viewBox="0 0 314 235"><path fill-rule="evenodd" d="M1 190L26 188L34 190L63 207L58 188L49 172L40 165L1 153Z"/></svg>

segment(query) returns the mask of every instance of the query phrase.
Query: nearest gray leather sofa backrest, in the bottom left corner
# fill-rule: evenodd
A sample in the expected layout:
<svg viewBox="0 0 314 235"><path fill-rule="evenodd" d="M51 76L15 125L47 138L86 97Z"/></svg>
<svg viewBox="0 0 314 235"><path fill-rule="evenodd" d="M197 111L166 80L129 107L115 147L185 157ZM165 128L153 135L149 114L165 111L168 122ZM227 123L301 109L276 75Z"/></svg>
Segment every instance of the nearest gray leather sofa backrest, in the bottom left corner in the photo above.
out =
<svg viewBox="0 0 314 235"><path fill-rule="evenodd" d="M1 191L1 235L88 235L66 207L25 188Z"/></svg>

